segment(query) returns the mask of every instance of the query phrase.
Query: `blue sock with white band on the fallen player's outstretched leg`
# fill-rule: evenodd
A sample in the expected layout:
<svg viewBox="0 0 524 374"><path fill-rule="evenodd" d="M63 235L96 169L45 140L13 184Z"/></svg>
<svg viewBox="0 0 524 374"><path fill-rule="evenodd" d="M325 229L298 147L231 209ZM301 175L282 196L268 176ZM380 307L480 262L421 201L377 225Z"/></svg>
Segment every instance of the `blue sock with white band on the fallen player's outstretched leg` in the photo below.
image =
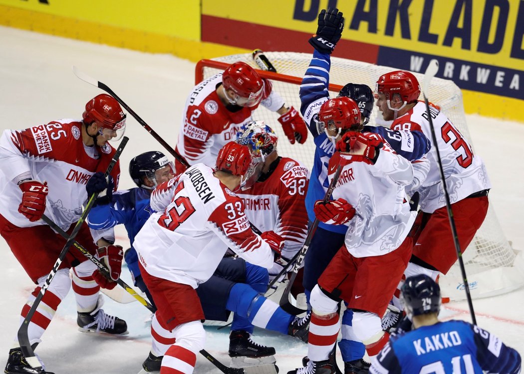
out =
<svg viewBox="0 0 524 374"><path fill-rule="evenodd" d="M261 296L250 286L237 283L233 286L226 303L227 310L235 312L231 330L253 332L253 322L256 326L288 333L288 326L293 320L291 314L283 311L278 305Z"/></svg>

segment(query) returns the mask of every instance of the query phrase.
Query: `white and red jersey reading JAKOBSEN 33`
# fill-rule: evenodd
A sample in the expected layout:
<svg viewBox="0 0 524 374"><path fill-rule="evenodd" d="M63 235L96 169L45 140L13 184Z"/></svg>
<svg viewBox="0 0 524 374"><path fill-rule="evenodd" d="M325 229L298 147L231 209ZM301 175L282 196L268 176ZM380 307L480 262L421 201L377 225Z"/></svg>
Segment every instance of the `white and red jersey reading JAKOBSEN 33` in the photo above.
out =
<svg viewBox="0 0 524 374"><path fill-rule="evenodd" d="M231 248L271 268L274 255L249 226L244 203L204 164L188 168L151 194L157 211L135 237L138 260L152 276L193 288L208 280Z"/></svg>

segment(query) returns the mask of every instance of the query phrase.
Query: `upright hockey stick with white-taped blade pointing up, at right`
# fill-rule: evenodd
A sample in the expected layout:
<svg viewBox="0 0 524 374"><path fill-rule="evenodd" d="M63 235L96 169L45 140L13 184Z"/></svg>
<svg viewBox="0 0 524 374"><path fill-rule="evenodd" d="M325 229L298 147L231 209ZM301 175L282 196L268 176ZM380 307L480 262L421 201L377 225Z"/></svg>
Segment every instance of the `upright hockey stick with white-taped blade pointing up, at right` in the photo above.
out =
<svg viewBox="0 0 524 374"><path fill-rule="evenodd" d="M428 69L426 69L424 73L422 93L424 95L424 102L426 106L426 112L428 115L429 128L431 129L431 141L434 144L436 160L438 161L438 164L439 164L440 181L442 182L442 189L444 190L444 200L446 201L447 217L450 220L451 233L453 235L453 243L455 244L457 258L459 259L460 270L462 273L462 280L464 282L464 290L466 291L467 304L468 304L468 307L470 307L472 322L474 325L476 325L477 320L475 318L475 312L473 310L473 302L471 300L470 286L468 285L468 282L467 282L466 269L464 267L464 260L462 259L462 252L460 250L459 236L457 236L457 229L455 226L455 218L453 217L453 211L451 210L450 196L447 193L446 180L444 178L444 169L442 168L442 158L440 157L439 147L437 146L438 143L436 142L435 129L433 128L433 119L431 117L431 112L429 110L429 100L428 100L428 95L427 95L429 84L431 82L431 78L435 76L438 70L439 70L439 62L436 60L431 60L428 65Z"/></svg>

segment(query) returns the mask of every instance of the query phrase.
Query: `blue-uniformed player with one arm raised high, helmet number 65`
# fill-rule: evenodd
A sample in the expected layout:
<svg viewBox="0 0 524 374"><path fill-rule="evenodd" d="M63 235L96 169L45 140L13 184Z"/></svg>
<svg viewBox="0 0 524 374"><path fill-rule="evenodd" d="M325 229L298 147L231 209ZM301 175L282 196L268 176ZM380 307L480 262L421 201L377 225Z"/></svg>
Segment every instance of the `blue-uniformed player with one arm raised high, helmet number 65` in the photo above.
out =
<svg viewBox="0 0 524 374"><path fill-rule="evenodd" d="M329 99L329 82L331 57L337 41L341 38L344 18L336 8L322 10L319 14L316 36L310 39L314 47L313 58L302 79L300 86L300 111L309 131L313 135L315 154L313 168L305 204L310 222L315 219L313 206L316 200L323 199L329 186L328 162L335 150L335 143L340 139L337 131L324 129L318 121L320 106ZM346 84L339 92L339 97L350 97L358 104L361 111L361 124L354 130L376 132L387 139L391 147L408 160L418 160L429 150L429 141L421 131L392 131L385 127L367 126L372 114L373 91L364 84ZM334 225L320 222L316 229L308 252L304 259L303 285L309 300L309 293L316 285L322 271L339 248L344 244L347 228L345 225ZM355 341L352 327L351 310L346 309L342 320L342 340L339 347L344 360L345 374L365 374L369 364L362 360L364 345ZM395 318L397 318L395 316ZM387 327L387 326L386 326Z"/></svg>

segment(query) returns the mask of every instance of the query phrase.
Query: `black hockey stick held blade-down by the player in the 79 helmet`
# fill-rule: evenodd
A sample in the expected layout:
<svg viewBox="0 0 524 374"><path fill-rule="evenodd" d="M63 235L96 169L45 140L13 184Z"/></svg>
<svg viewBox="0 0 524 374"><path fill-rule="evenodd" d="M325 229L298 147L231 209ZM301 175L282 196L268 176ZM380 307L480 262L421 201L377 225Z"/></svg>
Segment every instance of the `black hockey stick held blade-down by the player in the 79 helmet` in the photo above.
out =
<svg viewBox="0 0 524 374"><path fill-rule="evenodd" d="M336 183L339 180L340 173L342 171L342 165L337 166L335 174L333 175L333 179L331 180L331 183L329 184L328 190L326 191L324 195L324 199L322 201L326 202L331 197L331 194L333 193L333 190L335 189ZM292 274L289 277L289 282L286 286L286 289L284 292L282 292L282 296L280 297L280 308L285 310L286 312L290 314L300 314L304 313L305 310L299 309L295 307L291 302L289 301L289 293L291 292L291 286L293 285L293 282L295 278L297 277L298 270L302 266L302 262L304 261L305 253L308 251L309 245L311 244L311 240L313 239L313 234L316 231L317 226L319 225L319 219L315 218L313 223L311 224L311 227L308 230L308 235L305 237L304 244L302 245L301 250L298 252L298 257L296 262L293 264L293 268L291 269Z"/></svg>

